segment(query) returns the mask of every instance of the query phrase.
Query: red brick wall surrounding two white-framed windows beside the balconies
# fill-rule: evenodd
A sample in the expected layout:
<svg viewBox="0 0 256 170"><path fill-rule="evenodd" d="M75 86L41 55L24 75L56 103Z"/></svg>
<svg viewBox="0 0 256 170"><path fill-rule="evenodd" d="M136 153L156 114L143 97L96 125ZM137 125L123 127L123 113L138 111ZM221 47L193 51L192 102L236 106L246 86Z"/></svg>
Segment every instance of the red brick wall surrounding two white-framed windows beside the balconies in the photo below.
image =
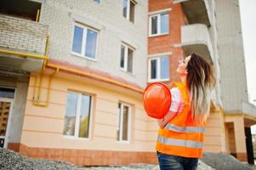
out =
<svg viewBox="0 0 256 170"><path fill-rule="evenodd" d="M175 44L180 44L180 27L185 25L185 14L182 11L181 5L173 4L172 0L150 0L149 12L161 10L164 8L172 8L169 12L169 34L157 37L149 37L148 54L159 54L172 52L169 56L170 67L170 82L165 84L170 85L172 82L179 81L176 74L179 59L183 58L182 48L174 48Z"/></svg>

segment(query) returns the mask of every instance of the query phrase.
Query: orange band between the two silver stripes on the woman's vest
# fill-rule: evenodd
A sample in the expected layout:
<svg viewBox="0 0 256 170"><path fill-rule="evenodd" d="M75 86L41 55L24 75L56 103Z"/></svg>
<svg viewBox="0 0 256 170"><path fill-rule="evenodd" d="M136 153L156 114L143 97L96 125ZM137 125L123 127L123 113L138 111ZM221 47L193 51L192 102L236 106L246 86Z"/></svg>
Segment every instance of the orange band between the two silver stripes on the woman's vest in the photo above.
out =
<svg viewBox="0 0 256 170"><path fill-rule="evenodd" d="M198 142L203 142L204 134L203 133L176 133L173 131L169 131L167 129L160 129L158 131L158 135L164 138L172 138L172 139L187 139Z"/></svg>

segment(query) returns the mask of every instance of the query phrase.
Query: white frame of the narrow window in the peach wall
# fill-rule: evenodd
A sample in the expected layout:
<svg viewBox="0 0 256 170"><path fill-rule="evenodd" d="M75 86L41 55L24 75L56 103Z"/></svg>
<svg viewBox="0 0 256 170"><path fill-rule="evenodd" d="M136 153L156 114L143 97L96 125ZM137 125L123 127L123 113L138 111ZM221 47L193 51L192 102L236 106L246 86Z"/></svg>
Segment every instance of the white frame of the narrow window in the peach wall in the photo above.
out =
<svg viewBox="0 0 256 170"><path fill-rule="evenodd" d="M131 141L131 105L125 104L123 102L118 102L118 105L121 105L120 109L118 108L118 116L117 116L117 130L119 129L119 140L117 139L117 143L130 143ZM122 127L123 127L123 107L128 106L128 140L122 140ZM121 116L121 117L120 117ZM121 122L119 122L121 121ZM120 126L121 125L121 126Z"/></svg>

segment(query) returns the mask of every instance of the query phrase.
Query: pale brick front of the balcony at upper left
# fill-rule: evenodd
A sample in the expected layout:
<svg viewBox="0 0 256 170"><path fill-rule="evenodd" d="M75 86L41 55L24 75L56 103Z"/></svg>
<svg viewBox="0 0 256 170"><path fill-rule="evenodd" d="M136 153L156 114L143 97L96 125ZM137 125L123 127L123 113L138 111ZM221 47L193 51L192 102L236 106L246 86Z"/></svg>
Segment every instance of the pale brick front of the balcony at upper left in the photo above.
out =
<svg viewBox="0 0 256 170"><path fill-rule="evenodd" d="M0 48L44 54L48 26L0 14Z"/></svg>

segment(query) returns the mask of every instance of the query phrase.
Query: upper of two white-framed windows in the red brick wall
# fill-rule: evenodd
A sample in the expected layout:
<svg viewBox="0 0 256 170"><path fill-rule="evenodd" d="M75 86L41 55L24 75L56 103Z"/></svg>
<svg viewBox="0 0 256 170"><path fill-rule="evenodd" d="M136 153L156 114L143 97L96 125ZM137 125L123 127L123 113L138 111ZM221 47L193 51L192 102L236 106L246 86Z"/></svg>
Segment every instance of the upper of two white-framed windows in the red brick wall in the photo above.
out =
<svg viewBox="0 0 256 170"><path fill-rule="evenodd" d="M150 16L150 36L168 34L169 14L154 14Z"/></svg>

